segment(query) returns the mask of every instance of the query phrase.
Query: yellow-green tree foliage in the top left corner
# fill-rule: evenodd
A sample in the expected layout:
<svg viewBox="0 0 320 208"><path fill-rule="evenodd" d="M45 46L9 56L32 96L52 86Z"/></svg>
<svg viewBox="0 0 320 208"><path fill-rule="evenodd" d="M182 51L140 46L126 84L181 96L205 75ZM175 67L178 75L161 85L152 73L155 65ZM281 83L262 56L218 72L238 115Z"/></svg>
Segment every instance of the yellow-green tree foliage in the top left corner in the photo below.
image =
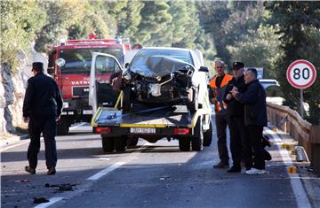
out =
<svg viewBox="0 0 320 208"><path fill-rule="evenodd" d="M32 1L2 0L0 57L1 64L12 66L12 71L18 65L20 50L28 52L30 42L36 37L36 32L44 25L46 15Z"/></svg>

